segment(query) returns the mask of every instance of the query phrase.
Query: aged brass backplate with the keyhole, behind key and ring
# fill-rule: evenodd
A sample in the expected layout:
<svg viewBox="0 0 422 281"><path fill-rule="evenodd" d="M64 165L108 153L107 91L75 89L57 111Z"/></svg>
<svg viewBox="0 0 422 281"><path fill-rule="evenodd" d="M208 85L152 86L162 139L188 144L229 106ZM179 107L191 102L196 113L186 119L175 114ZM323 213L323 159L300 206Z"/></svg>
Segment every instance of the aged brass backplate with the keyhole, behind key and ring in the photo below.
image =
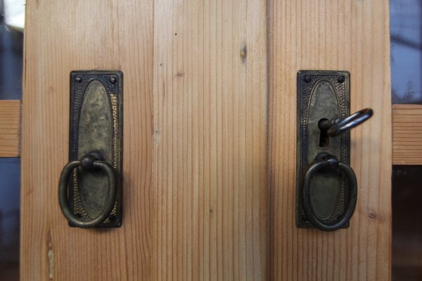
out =
<svg viewBox="0 0 422 281"><path fill-rule="evenodd" d="M350 164L350 133L328 137L319 129L321 119L350 115L350 74L345 71L298 72L298 146L296 160L296 226L313 228L302 207L304 172L316 155L327 152ZM335 223L345 212L347 181L340 171L319 172L311 181L311 202L316 216ZM347 228L347 223L344 228Z"/></svg>

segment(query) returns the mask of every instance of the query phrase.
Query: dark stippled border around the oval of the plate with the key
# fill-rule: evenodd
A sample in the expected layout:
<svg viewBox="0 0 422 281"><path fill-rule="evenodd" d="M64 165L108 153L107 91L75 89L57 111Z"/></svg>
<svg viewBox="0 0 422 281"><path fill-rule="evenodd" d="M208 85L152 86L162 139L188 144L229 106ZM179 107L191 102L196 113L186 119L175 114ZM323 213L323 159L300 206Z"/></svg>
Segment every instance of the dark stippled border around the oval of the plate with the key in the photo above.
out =
<svg viewBox="0 0 422 281"><path fill-rule="evenodd" d="M339 81L339 77L344 77L344 81ZM340 107L340 118L350 115L350 73L346 71L331 70L300 70L298 72L298 112L297 112L297 153L296 153L296 226L298 228L314 228L312 223L307 219L305 211L302 207L302 186L303 176L309 166L308 148L307 148L307 120L309 116L309 103L314 91L314 87L320 81L328 81L337 96L338 105ZM340 162L350 164L350 132L347 131L338 136L341 143L341 155L335 155ZM347 181L344 176L340 179L340 192L338 195L337 205L328 220L324 223L335 222L345 211L347 200ZM347 228L347 223L344 228Z"/></svg>

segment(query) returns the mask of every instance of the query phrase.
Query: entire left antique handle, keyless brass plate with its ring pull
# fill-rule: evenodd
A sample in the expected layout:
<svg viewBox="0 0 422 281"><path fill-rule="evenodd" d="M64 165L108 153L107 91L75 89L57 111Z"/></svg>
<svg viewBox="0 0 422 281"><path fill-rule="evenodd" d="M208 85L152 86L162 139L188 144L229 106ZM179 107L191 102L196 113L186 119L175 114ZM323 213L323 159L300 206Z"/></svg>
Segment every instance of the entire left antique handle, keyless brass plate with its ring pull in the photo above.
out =
<svg viewBox="0 0 422 281"><path fill-rule="evenodd" d="M123 73L70 73L70 162L59 202L70 226L122 225Z"/></svg>

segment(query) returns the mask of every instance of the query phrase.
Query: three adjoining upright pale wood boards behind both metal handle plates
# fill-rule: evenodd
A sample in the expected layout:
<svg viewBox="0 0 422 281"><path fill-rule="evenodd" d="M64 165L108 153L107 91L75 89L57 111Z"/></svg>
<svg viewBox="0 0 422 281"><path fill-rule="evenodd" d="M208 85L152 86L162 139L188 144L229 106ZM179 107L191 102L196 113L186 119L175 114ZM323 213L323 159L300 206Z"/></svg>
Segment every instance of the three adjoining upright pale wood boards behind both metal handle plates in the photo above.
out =
<svg viewBox="0 0 422 281"><path fill-rule="evenodd" d="M340 3L341 2L341 3ZM21 280L388 280L388 1L27 1ZM348 70L359 200L295 228L295 77ZM124 73L123 224L70 228L70 72Z"/></svg>

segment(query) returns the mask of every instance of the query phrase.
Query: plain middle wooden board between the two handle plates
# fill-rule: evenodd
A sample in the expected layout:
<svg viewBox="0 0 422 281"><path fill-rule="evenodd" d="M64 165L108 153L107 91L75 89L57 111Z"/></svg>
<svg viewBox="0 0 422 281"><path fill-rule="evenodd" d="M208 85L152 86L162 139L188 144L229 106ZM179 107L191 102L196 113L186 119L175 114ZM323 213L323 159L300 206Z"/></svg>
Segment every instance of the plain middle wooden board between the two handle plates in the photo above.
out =
<svg viewBox="0 0 422 281"><path fill-rule="evenodd" d="M265 280L266 2L154 9L153 280Z"/></svg>

